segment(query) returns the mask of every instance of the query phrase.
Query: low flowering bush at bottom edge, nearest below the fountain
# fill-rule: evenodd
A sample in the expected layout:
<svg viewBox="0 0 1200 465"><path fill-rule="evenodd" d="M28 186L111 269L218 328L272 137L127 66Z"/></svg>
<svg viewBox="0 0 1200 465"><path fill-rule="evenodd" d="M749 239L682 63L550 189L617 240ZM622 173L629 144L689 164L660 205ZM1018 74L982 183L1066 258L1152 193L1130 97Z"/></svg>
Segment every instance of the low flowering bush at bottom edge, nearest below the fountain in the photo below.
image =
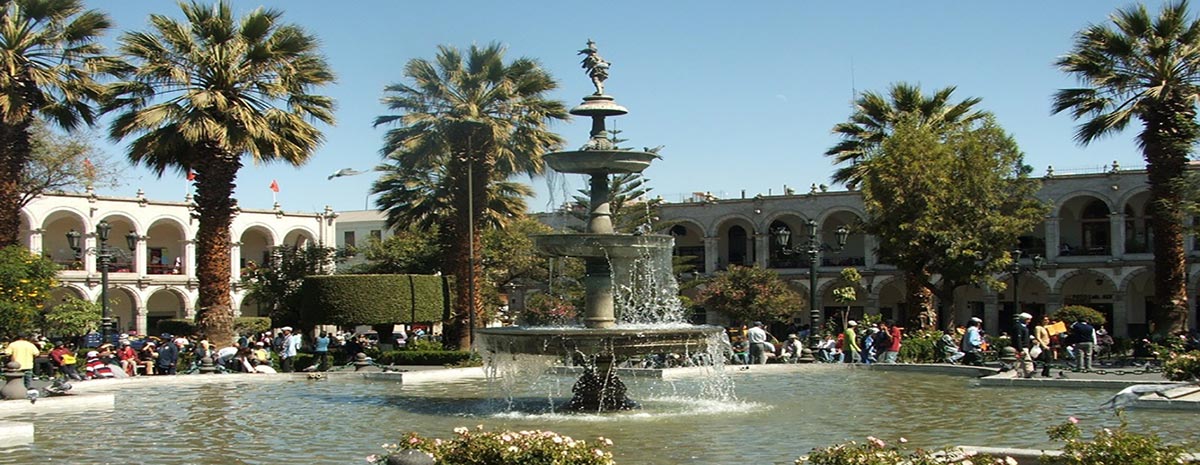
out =
<svg viewBox="0 0 1200 465"><path fill-rule="evenodd" d="M598 437L595 443L575 440L552 431L472 431L455 428L457 437L426 439L409 433L400 443L384 445L388 452L367 457L367 463L388 464L388 458L407 451L430 454L445 465L612 465L608 447L612 441Z"/></svg>

